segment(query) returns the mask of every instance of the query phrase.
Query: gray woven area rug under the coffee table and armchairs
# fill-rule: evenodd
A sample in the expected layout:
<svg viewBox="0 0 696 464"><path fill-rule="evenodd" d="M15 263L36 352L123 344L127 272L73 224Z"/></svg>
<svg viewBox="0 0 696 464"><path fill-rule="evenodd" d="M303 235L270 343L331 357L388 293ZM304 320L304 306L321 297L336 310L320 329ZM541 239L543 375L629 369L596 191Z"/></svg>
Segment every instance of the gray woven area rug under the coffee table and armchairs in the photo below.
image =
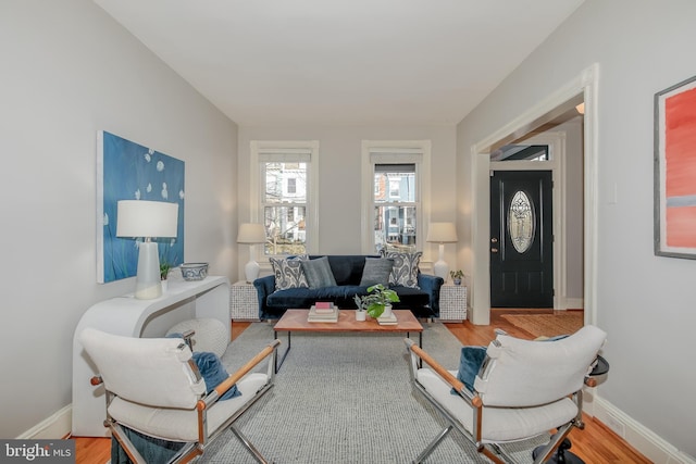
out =
<svg viewBox="0 0 696 464"><path fill-rule="evenodd" d="M411 334L414 341L418 335ZM283 463L409 463L444 422L412 390L405 335L293 334L293 348L273 387L239 421L241 431L270 461ZM249 326L227 349L229 372L273 339L266 323ZM281 334L283 343L286 335ZM456 369L461 343L439 323L424 325L423 348ZM532 462L535 442L507 448ZM206 463L254 463L225 431L202 456ZM452 431L428 463L487 463Z"/></svg>

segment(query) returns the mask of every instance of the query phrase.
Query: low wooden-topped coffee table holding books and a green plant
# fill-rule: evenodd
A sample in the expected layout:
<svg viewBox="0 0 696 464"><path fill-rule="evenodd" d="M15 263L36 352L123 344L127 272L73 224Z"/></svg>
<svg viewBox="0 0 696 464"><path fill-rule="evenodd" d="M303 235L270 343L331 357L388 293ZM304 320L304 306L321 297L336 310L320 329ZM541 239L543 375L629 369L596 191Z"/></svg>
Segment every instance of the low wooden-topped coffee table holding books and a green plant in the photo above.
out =
<svg viewBox="0 0 696 464"><path fill-rule="evenodd" d="M294 331L371 331L371 333L418 333L418 344L423 348L423 326L415 318L410 310L393 310L396 316L396 325L380 325L375 319L368 317L368 321L356 321L356 310L340 310L338 322L336 323L310 323L307 321L309 310L287 310L283 317L273 327L273 338L278 338L278 331L287 331L287 348L281 356L276 358L275 372L277 373L287 353L290 351L290 335Z"/></svg>

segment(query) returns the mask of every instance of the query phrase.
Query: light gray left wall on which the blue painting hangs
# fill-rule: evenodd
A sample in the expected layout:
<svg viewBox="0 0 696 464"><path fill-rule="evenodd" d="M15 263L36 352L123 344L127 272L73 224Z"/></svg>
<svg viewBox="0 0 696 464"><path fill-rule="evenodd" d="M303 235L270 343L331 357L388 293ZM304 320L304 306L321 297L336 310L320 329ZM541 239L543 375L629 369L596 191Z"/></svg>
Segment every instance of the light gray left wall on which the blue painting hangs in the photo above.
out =
<svg viewBox="0 0 696 464"><path fill-rule="evenodd" d="M234 280L237 128L88 0L3 0L0 57L0 437L14 438L71 403L82 314L133 291L97 284L97 131L186 162L185 258Z"/></svg>

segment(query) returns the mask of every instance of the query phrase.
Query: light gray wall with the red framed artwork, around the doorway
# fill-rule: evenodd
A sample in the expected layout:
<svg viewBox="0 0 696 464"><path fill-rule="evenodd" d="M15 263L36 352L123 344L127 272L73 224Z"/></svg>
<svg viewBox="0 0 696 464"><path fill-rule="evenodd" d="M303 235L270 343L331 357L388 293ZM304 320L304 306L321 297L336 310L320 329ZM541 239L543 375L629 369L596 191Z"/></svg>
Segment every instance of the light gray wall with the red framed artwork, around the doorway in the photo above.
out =
<svg viewBox="0 0 696 464"><path fill-rule="evenodd" d="M693 0L586 0L457 130L462 178L474 143L599 64L596 310L611 371L598 393L692 459L696 261L652 252L652 98L696 74L694 17ZM464 227L471 192L459 188ZM459 256L471 266L467 243Z"/></svg>

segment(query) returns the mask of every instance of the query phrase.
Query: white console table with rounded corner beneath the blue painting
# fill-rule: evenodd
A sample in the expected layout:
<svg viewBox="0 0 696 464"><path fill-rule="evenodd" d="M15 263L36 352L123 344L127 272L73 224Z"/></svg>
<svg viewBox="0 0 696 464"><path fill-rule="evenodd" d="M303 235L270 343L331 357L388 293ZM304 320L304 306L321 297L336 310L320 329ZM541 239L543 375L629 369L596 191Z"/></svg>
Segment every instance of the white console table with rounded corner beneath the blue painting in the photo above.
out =
<svg viewBox="0 0 696 464"><path fill-rule="evenodd" d="M208 276L199 281L170 279L167 290L153 300L137 300L133 293L89 308L73 338L73 436L109 437L103 386L89 379L97 369L78 340L85 327L129 337L162 337L174 325L196 317L220 319L229 334L229 280Z"/></svg>

